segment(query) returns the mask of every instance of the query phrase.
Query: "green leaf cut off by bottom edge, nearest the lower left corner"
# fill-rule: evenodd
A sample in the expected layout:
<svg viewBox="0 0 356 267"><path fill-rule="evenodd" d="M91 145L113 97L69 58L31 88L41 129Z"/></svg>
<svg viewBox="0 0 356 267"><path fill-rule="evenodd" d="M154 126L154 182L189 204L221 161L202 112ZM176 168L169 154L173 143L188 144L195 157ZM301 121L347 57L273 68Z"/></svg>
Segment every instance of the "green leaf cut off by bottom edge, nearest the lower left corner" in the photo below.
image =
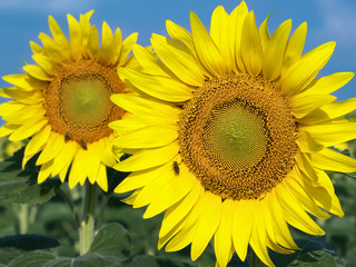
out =
<svg viewBox="0 0 356 267"><path fill-rule="evenodd" d="M20 267L20 266L39 267L39 266L46 265L47 263L49 263L55 258L56 256L49 253L33 251L29 254L23 254L14 258L13 260L10 261L8 267Z"/></svg>

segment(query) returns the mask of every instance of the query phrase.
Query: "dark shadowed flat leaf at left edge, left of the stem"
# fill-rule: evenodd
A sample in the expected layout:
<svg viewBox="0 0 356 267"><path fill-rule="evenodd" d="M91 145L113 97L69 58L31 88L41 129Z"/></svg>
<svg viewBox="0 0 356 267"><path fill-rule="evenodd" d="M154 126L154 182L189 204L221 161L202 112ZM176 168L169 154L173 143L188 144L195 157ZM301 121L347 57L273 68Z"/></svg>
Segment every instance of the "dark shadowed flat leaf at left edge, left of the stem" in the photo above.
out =
<svg viewBox="0 0 356 267"><path fill-rule="evenodd" d="M14 247L22 250L36 250L53 248L59 243L48 236L42 235L16 235L0 238L0 247Z"/></svg>

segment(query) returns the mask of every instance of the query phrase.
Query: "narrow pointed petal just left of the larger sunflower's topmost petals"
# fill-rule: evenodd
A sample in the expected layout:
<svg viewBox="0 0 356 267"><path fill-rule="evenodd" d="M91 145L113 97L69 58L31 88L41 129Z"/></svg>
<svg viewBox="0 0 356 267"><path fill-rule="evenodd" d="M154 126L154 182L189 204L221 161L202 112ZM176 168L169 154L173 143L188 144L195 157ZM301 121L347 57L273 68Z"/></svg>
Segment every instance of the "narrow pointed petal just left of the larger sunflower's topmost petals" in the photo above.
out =
<svg viewBox="0 0 356 267"><path fill-rule="evenodd" d="M212 76L222 76L224 60L221 52L212 41L205 26L192 11L190 11L190 26L195 49L201 63Z"/></svg>

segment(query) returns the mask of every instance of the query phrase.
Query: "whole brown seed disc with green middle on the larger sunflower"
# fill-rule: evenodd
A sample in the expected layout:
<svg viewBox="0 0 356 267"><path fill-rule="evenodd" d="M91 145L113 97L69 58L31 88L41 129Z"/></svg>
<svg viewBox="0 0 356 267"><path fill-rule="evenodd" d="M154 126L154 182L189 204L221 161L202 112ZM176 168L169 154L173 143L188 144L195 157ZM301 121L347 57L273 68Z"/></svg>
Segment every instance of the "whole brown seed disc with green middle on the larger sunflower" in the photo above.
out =
<svg viewBox="0 0 356 267"><path fill-rule="evenodd" d="M182 161L221 198L263 198L295 164L297 126L279 88L263 77L206 81L179 120Z"/></svg>

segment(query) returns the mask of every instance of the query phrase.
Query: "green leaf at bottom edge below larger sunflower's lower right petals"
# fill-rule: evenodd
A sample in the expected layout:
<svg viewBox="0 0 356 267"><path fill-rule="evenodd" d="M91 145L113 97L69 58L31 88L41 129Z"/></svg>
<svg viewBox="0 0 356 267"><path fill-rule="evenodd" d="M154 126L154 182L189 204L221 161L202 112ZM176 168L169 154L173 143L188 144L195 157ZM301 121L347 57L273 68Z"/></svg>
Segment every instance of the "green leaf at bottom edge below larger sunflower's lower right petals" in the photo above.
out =
<svg viewBox="0 0 356 267"><path fill-rule="evenodd" d="M324 250L307 253L295 259L288 267L336 267L335 258Z"/></svg>

